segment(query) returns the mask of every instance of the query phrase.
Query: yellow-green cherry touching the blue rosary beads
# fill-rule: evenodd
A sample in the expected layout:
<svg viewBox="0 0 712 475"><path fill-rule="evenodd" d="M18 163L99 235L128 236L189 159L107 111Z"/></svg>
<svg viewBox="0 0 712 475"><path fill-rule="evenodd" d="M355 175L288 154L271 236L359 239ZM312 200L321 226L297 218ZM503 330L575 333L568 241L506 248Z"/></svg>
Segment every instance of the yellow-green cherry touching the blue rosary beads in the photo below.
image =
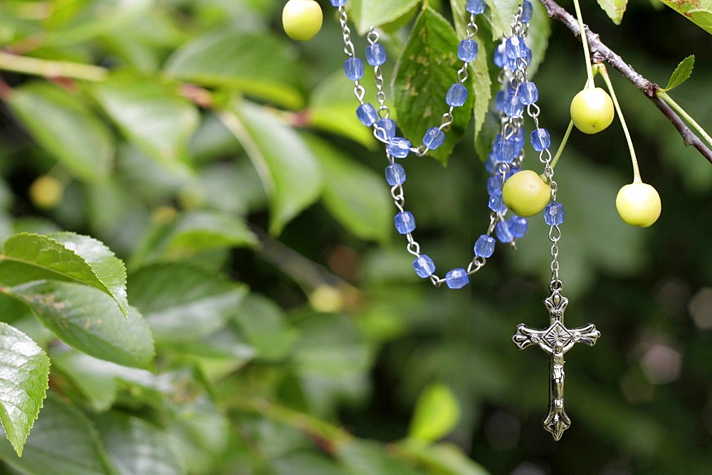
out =
<svg viewBox="0 0 712 475"><path fill-rule="evenodd" d="M536 172L522 170L513 174L502 187L502 199L515 215L529 218L549 203L551 190Z"/></svg>

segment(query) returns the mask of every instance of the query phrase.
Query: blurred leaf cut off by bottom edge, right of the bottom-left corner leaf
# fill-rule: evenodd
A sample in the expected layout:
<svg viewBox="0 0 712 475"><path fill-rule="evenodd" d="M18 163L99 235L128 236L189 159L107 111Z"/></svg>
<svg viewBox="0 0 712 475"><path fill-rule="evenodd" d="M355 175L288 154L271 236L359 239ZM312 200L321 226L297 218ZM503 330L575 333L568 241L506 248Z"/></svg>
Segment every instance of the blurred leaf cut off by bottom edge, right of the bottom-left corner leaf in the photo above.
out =
<svg viewBox="0 0 712 475"><path fill-rule="evenodd" d="M109 458L119 474L183 474L167 434L138 417L110 412L95 419Z"/></svg>

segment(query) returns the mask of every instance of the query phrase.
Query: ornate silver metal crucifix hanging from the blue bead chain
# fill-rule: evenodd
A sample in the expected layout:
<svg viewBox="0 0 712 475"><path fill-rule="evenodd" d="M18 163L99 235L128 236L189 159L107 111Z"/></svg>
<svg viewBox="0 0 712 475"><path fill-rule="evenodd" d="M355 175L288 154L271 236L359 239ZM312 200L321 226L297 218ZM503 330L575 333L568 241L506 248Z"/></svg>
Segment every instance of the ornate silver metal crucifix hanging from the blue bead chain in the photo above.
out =
<svg viewBox="0 0 712 475"><path fill-rule="evenodd" d="M544 300L549 312L549 326L543 330L530 329L524 324L517 326L512 341L521 350L530 345L538 345L549 353L549 413L543 425L554 436L555 440L571 425L571 420L564 411L564 353L569 351L574 343L585 343L594 346L601 336L593 324L578 329L567 329L564 326L564 310L569 303L562 297L559 289L553 289L550 297Z"/></svg>

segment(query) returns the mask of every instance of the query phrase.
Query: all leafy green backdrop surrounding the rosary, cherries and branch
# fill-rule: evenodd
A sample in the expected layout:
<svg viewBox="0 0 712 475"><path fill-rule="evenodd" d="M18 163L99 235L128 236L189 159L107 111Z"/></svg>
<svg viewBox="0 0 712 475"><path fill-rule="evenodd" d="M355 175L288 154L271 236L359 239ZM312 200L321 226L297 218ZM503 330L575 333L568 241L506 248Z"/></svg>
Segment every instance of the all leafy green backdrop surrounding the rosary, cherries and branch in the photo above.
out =
<svg viewBox="0 0 712 475"><path fill-rule="evenodd" d="M602 41L711 123L704 1L582 3ZM632 179L618 121L572 134L556 167L567 322L602 337L567 354L572 427L553 442L546 357L511 343L547 321L543 220L465 289L418 279L335 9L320 1L323 29L299 43L283 4L0 2L0 471L709 471L712 166L609 68L663 213L646 229L616 213ZM357 52L379 27L387 104L416 146L447 110L465 4L348 2ZM487 4L448 141L400 162L439 274L488 225L491 58L518 2ZM585 65L534 6L530 74L557 146ZM372 73L362 84L375 101Z"/></svg>

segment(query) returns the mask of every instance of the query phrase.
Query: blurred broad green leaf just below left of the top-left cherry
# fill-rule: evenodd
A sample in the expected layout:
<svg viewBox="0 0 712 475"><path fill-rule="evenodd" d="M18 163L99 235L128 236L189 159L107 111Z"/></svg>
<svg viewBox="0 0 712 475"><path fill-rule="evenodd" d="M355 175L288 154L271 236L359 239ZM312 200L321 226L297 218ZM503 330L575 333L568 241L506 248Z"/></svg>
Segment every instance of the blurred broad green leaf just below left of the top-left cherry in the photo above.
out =
<svg viewBox="0 0 712 475"><path fill-rule="evenodd" d="M231 87L290 108L303 105L303 74L292 46L274 36L232 29L211 31L168 58L169 77L204 86Z"/></svg>

